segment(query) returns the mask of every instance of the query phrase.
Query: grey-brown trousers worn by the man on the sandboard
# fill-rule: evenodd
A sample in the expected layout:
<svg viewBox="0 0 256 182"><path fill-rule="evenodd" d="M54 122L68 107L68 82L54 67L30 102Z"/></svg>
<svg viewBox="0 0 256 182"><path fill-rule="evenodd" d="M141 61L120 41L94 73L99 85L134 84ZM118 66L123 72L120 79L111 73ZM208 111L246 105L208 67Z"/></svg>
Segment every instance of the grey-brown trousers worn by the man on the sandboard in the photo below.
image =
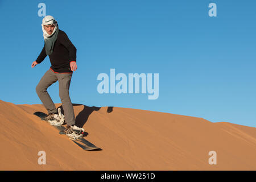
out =
<svg viewBox="0 0 256 182"><path fill-rule="evenodd" d="M69 97L69 86L73 73L55 73L49 69L36 86L36 93L46 107L48 114L57 113L57 109L47 92L47 88L56 81L59 81L59 95L64 110L65 122L67 125L75 125L75 114L72 102Z"/></svg>

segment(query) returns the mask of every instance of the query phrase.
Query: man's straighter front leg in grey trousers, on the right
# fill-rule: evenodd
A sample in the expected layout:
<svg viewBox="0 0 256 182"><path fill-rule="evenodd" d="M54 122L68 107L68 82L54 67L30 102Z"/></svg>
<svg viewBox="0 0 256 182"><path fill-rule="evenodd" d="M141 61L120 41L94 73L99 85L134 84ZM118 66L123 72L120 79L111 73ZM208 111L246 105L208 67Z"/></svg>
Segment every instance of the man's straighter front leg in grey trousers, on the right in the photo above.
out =
<svg viewBox="0 0 256 182"><path fill-rule="evenodd" d="M75 125L74 109L69 97L69 86L71 83L72 74L73 73L60 73L57 75L59 80L60 100L64 110L65 122L67 125Z"/></svg>

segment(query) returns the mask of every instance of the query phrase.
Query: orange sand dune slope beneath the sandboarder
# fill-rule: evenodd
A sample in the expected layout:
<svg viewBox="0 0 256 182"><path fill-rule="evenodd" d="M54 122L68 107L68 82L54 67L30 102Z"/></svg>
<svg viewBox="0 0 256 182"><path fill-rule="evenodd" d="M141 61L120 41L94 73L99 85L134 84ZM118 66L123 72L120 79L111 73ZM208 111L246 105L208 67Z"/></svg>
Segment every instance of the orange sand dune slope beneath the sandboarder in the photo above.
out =
<svg viewBox="0 0 256 182"><path fill-rule="evenodd" d="M56 104L56 107L61 104ZM1 170L255 170L256 129L203 118L121 107L73 104L85 139L102 151L83 151L33 113L41 104L0 100ZM38 152L46 152L46 165ZM210 165L209 151L217 164Z"/></svg>

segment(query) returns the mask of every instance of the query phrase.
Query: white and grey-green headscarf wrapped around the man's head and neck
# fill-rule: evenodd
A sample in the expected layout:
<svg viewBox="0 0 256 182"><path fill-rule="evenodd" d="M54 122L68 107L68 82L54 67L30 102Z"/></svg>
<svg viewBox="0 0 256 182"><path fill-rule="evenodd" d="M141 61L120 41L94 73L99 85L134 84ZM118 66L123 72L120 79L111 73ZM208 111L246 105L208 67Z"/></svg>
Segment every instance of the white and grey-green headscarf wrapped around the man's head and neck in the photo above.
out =
<svg viewBox="0 0 256 182"><path fill-rule="evenodd" d="M54 24L55 28L51 35L47 33L47 31L44 29L44 25L51 25ZM57 21L53 18L53 16L48 15L43 18L42 20L42 30L43 30L43 36L44 36L44 43L46 44L46 55L51 55L53 51L54 44L57 39L57 35L59 32L59 26L57 24Z"/></svg>

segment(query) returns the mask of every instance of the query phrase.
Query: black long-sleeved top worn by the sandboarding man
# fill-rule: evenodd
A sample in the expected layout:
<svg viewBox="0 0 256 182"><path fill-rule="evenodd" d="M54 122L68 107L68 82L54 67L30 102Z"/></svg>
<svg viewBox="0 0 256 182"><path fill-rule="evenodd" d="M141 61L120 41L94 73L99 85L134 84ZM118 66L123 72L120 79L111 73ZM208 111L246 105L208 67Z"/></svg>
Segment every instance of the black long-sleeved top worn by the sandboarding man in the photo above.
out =
<svg viewBox="0 0 256 182"><path fill-rule="evenodd" d="M46 44L36 59L36 63L41 63L46 58ZM76 47L71 43L67 34L59 29L58 36L53 47L53 52L49 55L51 69L57 73L72 73L69 63L76 61Z"/></svg>

